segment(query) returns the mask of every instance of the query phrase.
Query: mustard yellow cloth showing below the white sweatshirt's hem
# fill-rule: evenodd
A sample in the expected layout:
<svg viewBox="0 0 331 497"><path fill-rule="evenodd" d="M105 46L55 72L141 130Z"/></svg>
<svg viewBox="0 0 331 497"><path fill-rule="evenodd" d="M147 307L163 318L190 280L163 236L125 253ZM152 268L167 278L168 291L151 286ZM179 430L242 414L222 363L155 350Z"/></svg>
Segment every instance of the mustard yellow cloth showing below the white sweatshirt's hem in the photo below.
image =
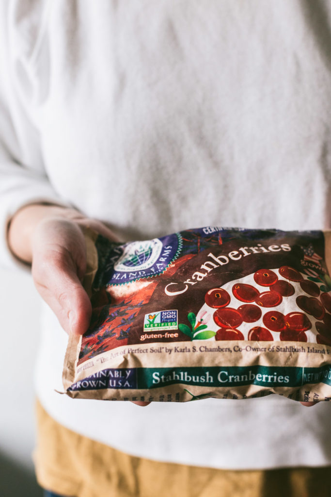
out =
<svg viewBox="0 0 331 497"><path fill-rule="evenodd" d="M57 423L36 404L37 480L74 497L328 497L331 467L228 471L132 457Z"/></svg>

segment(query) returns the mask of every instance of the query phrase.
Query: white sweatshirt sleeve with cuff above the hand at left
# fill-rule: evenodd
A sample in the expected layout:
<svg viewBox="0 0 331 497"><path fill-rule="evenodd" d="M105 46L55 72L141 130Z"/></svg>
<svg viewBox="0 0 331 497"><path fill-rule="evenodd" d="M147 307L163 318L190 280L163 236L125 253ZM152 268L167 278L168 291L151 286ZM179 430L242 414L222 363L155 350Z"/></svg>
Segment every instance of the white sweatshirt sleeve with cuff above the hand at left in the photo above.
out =
<svg viewBox="0 0 331 497"><path fill-rule="evenodd" d="M25 205L70 205L53 188L43 164L31 108L45 71L38 65L46 22L42 1L0 3L0 265L22 267L7 244L13 214ZM33 105L31 105L31 102Z"/></svg>

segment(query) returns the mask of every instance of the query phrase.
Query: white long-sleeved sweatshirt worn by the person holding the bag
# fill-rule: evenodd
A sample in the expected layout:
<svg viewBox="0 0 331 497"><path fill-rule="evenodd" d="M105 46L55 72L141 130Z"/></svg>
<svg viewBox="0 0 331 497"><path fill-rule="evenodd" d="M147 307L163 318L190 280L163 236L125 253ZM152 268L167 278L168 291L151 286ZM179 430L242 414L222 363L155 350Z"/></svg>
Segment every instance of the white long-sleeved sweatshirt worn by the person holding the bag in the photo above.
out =
<svg viewBox="0 0 331 497"><path fill-rule="evenodd" d="M331 227L331 3L2 0L0 257L10 216L73 205L124 240L215 226ZM46 307L36 390L70 429L215 468L331 464L331 405L59 395L67 336Z"/></svg>

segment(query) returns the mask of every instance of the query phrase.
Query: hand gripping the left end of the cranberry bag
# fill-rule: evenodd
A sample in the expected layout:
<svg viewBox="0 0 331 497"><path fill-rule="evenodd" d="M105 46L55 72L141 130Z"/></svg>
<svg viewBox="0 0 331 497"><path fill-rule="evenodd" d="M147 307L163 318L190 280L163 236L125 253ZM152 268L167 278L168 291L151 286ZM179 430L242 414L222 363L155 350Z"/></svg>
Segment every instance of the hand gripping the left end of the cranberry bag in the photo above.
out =
<svg viewBox="0 0 331 497"><path fill-rule="evenodd" d="M86 270L82 227L116 239L98 220L74 209L41 204L19 210L8 231L9 247L19 259L31 263L33 281L43 300L62 328L78 335L87 331L92 315L90 299L81 284Z"/></svg>

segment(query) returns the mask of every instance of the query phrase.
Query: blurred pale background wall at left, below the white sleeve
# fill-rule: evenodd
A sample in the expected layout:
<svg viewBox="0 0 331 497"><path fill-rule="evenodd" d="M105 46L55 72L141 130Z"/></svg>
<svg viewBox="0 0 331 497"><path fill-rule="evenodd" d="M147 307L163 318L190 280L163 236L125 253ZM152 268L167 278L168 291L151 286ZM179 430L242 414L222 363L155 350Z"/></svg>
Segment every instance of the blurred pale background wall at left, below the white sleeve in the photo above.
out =
<svg viewBox="0 0 331 497"><path fill-rule="evenodd" d="M23 271L0 267L0 496L37 497L33 368L39 295Z"/></svg>

